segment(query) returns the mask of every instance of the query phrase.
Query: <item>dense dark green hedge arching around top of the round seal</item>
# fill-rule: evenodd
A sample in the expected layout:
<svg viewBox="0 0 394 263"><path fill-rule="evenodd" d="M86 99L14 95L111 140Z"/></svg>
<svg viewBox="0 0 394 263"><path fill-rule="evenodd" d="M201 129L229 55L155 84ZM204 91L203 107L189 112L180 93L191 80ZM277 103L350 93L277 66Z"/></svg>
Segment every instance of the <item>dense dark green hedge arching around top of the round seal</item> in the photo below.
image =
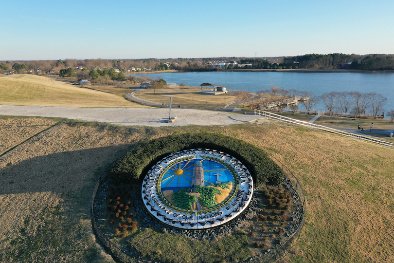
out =
<svg viewBox="0 0 394 263"><path fill-rule="evenodd" d="M182 133L148 141L120 158L111 168L112 183L136 184L149 168L164 156L181 150L208 148L228 153L251 172L256 186L266 183L281 185L283 170L267 153L250 143L217 133Z"/></svg>

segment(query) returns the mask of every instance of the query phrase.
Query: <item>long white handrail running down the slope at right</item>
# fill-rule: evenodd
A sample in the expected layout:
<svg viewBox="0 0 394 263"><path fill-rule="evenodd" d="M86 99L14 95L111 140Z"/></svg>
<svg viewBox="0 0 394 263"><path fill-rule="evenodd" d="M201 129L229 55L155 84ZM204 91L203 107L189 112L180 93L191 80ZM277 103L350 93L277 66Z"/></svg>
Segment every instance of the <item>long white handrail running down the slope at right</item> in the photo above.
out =
<svg viewBox="0 0 394 263"><path fill-rule="evenodd" d="M371 138L371 137L366 137L366 136L359 135L359 134L352 133L352 132L340 131L340 130L337 130L337 129L333 129L333 128L322 126L322 125L318 125L318 124L309 123L309 122L306 122L306 121L292 119L292 118L285 117L285 116L282 116L282 115L279 115L279 114L275 114L275 113L264 112L264 111L260 111L260 110L254 110L254 114L266 116L268 118L276 119L276 120L279 120L279 121L282 121L282 122L286 122L286 123L290 123L290 124L301 125L301 126L304 126L304 127L307 127L307 128L311 128L311 129L317 129L317 130L320 130L320 131L327 131L327 132L331 132L331 133L336 133L336 134L344 135L344 136L347 136L347 137L356 138L356 139L360 139L360 140L367 141L367 142L372 142L372 143L379 144L379 145L382 145L382 146L385 146L385 147L394 148L394 143L377 140L377 139L374 139L374 138Z"/></svg>

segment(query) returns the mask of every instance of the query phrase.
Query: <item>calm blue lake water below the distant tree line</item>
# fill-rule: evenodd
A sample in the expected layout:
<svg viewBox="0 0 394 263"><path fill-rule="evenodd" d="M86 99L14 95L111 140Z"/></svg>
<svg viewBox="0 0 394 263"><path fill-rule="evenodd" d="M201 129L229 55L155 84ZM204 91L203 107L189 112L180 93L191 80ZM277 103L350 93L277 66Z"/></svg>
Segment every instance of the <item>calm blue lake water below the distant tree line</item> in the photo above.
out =
<svg viewBox="0 0 394 263"><path fill-rule="evenodd" d="M231 91L258 92L277 85L281 89L311 91L317 96L331 91L376 92L387 98L382 110L394 110L394 73L186 72L146 75L161 76L167 83L184 82L188 86L198 87L208 82ZM318 108L324 108L322 103Z"/></svg>

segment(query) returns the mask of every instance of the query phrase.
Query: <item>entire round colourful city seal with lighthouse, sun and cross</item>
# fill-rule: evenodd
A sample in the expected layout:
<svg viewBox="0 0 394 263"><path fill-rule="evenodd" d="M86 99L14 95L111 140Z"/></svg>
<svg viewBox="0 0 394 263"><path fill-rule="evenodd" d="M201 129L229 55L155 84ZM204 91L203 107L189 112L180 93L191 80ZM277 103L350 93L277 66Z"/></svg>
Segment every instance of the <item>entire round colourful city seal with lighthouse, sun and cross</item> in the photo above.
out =
<svg viewBox="0 0 394 263"><path fill-rule="evenodd" d="M145 175L143 203L162 223L204 229L227 223L249 205L253 180L233 156L217 150L183 150L161 159Z"/></svg>

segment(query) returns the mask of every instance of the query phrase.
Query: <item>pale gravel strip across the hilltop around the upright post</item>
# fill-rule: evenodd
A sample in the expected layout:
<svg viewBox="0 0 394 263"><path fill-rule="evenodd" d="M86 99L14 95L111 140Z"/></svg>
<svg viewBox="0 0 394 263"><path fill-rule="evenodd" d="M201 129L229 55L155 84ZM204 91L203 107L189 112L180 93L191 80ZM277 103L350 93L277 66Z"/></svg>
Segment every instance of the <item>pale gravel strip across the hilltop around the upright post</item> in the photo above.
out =
<svg viewBox="0 0 394 263"><path fill-rule="evenodd" d="M242 123L240 114L172 109L171 116L177 116L174 123L166 123L169 109L149 108L73 108L45 106L0 105L0 115L63 117L83 121L108 122L118 125L137 126L186 126L186 125L231 125Z"/></svg>

